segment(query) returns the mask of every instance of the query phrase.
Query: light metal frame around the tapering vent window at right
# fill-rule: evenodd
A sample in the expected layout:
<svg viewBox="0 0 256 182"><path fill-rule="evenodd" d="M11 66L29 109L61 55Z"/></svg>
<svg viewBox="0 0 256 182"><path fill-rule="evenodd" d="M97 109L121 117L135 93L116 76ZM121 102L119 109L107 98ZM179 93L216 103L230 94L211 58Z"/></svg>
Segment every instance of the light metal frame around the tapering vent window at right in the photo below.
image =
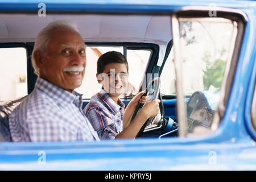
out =
<svg viewBox="0 0 256 182"><path fill-rule="evenodd" d="M234 72L237 67L238 55L240 53L240 47L242 43L243 34L245 32L245 23L247 22L247 16L240 10L227 9L223 7L216 7L217 18L225 18L233 21L234 26L237 27L236 34L232 35L232 43L230 44L229 59L226 63L226 68L221 84L220 90L220 101L214 114L212 131L216 131L220 125L221 118L224 116L226 111L226 105L230 96L230 90L233 85ZM177 79L177 120L179 121L179 137L187 136L187 125L185 122L186 106L184 103L184 90L182 82L182 66L180 63L180 28L179 19L180 18L209 18L209 12L212 11L210 7L203 6L188 6L183 7L183 9L176 11L172 14L172 36L174 37L174 57L175 57L175 69L176 69L176 79ZM175 45L176 44L176 45Z"/></svg>

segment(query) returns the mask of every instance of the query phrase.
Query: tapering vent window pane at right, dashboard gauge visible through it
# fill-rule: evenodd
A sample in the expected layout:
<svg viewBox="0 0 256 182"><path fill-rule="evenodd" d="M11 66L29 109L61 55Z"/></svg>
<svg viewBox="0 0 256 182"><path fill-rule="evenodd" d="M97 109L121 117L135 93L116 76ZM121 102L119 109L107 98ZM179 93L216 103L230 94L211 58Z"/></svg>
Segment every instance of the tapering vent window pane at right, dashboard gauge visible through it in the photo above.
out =
<svg viewBox="0 0 256 182"><path fill-rule="evenodd" d="M184 96L191 96L186 100L184 128L189 136L209 134L220 102L226 63L233 52L236 26L224 18L180 18L179 27L181 69L177 74L181 75ZM172 55L168 62L173 64Z"/></svg>

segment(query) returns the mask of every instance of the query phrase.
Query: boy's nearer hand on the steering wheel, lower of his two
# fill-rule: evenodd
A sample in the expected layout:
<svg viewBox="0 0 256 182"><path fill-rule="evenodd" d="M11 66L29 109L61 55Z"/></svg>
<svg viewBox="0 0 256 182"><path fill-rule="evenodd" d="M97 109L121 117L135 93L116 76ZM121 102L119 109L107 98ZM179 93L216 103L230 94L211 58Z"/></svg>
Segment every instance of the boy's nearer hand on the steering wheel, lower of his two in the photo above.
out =
<svg viewBox="0 0 256 182"><path fill-rule="evenodd" d="M159 113L159 99L149 100L141 109L140 113L146 117L146 119L154 117Z"/></svg>

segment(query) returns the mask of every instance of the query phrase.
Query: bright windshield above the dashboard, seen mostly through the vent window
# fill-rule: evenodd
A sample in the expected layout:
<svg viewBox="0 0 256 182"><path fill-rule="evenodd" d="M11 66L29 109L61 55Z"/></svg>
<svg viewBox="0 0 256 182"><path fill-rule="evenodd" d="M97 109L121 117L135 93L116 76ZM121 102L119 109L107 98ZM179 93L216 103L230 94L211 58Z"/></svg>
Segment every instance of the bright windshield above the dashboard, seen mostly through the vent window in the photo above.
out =
<svg viewBox="0 0 256 182"><path fill-rule="evenodd" d="M231 22L197 21L180 24L185 94L191 95L198 90L220 91L232 33ZM176 94L174 48L171 49L160 77L161 93Z"/></svg>

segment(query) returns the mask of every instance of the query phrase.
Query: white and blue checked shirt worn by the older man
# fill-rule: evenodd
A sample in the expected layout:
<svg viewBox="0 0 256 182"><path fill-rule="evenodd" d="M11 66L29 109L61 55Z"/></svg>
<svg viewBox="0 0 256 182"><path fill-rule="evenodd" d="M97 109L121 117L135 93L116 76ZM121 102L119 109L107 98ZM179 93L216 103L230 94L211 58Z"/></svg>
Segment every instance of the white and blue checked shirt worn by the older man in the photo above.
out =
<svg viewBox="0 0 256 182"><path fill-rule="evenodd" d="M38 77L33 92L9 116L11 138L14 142L99 140L81 106L81 94Z"/></svg>

